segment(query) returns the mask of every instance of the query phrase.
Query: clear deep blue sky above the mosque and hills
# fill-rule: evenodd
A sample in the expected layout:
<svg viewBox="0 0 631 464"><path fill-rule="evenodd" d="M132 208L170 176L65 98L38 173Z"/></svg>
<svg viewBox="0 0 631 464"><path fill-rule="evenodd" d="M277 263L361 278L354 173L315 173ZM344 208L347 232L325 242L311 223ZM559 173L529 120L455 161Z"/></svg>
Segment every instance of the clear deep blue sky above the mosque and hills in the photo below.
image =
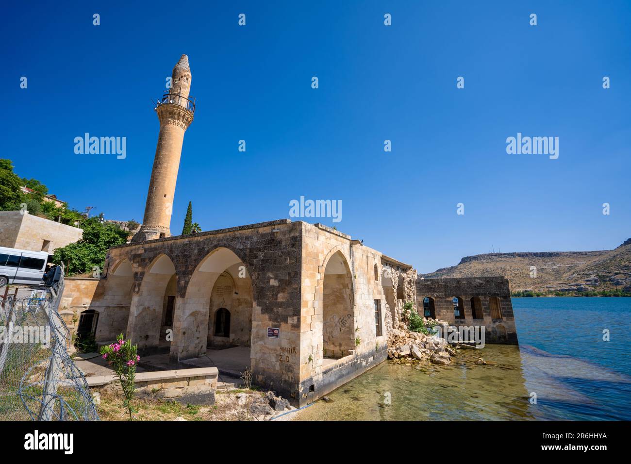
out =
<svg viewBox="0 0 631 464"><path fill-rule="evenodd" d="M342 221L321 222L422 272L492 246L610 249L631 236L628 1L172 4L4 7L0 146L18 174L78 210L141 221L151 100L186 53L197 111L174 234L189 200L212 230L288 217L304 195L341 199ZM74 154L86 132L126 136L127 158ZM559 158L508 155L518 132L558 136Z"/></svg>

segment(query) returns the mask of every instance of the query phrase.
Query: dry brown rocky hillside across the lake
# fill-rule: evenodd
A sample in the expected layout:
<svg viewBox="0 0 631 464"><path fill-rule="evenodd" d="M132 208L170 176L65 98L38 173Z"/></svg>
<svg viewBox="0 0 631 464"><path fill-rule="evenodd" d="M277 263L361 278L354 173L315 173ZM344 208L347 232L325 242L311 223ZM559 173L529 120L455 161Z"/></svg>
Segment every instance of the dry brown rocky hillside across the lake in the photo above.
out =
<svg viewBox="0 0 631 464"><path fill-rule="evenodd" d="M531 266L536 277L531 277ZM504 276L512 292L631 292L631 239L608 251L487 253L466 256L457 266L420 278Z"/></svg>

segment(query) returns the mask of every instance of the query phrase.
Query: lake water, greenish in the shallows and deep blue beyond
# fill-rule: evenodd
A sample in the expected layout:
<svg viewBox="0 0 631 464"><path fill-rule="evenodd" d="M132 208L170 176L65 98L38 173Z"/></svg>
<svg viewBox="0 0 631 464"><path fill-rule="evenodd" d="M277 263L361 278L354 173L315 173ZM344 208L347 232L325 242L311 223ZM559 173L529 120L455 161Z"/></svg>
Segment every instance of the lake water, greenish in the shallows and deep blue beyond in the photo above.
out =
<svg viewBox="0 0 631 464"><path fill-rule="evenodd" d="M384 362L295 419L631 420L631 298L512 303L519 348L461 350L447 367Z"/></svg>

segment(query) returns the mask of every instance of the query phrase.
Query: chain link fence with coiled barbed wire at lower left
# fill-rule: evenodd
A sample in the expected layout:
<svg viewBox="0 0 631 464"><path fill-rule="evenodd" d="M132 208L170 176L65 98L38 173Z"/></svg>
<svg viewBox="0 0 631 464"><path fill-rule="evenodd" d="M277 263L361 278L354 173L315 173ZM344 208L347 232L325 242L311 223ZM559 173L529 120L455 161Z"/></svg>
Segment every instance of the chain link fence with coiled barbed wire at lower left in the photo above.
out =
<svg viewBox="0 0 631 464"><path fill-rule="evenodd" d="M0 299L0 420L98 420L85 377L69 357L59 282ZM39 294L38 294L39 293Z"/></svg>

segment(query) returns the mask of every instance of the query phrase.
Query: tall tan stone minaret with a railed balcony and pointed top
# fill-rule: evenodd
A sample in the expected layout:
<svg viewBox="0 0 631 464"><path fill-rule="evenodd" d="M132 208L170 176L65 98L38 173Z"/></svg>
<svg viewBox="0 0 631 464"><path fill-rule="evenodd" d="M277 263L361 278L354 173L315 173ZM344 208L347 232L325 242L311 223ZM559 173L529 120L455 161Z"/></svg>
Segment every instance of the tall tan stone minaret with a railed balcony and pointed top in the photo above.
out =
<svg viewBox="0 0 631 464"><path fill-rule="evenodd" d="M160 119L158 147L153 160L151 181L144 206L143 226L132 242L170 237L171 211L175 194L177 170L180 167L184 133L193 120L194 98L191 90L189 58L182 55L173 68L172 88L158 102L156 112Z"/></svg>

